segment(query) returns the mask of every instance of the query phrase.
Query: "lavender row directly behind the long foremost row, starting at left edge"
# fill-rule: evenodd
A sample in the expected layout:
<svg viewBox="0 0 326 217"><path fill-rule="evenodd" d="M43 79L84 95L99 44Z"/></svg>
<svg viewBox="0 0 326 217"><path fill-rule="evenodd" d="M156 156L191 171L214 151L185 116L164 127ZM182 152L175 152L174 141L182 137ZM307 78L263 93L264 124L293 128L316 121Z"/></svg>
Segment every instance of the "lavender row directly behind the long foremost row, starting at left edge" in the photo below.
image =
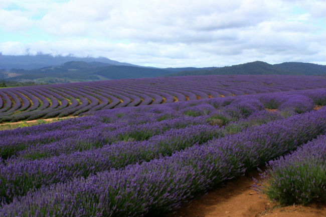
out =
<svg viewBox="0 0 326 217"><path fill-rule="evenodd" d="M172 129L164 135L154 136L144 142L120 142L95 150L61 154L44 160L24 160L0 165L0 198L9 202L14 196L24 195L42 185L87 177L110 168L149 161L174 151L203 143L223 135L219 127L196 125ZM31 181L27 181L31 180Z"/></svg>

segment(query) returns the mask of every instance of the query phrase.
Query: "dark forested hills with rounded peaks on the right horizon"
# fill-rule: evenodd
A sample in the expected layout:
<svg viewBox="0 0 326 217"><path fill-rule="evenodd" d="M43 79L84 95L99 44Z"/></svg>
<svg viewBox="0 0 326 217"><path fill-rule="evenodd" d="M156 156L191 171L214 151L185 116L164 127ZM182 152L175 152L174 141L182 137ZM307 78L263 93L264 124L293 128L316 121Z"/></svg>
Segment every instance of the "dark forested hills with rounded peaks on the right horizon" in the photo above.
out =
<svg viewBox="0 0 326 217"><path fill-rule="evenodd" d="M271 65L261 61L234 66L187 70L168 76L186 75L326 75L326 66L312 63L281 63Z"/></svg>

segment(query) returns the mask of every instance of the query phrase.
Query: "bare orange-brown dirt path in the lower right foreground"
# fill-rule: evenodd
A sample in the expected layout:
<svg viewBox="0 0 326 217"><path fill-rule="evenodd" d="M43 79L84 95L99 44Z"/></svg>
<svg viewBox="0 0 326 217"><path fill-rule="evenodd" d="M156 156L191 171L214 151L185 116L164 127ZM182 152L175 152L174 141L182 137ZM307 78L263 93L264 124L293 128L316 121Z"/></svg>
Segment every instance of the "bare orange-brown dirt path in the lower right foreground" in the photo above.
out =
<svg viewBox="0 0 326 217"><path fill-rule="evenodd" d="M325 217L325 204L278 207L251 189L257 172L229 181L225 186L185 204L167 217Z"/></svg>

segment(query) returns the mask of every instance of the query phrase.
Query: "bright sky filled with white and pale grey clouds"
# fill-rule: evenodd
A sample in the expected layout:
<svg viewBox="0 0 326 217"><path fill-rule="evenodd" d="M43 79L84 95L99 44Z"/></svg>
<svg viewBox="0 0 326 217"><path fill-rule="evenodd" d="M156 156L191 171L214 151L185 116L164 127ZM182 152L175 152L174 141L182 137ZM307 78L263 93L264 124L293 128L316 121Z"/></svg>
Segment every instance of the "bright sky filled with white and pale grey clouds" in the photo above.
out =
<svg viewBox="0 0 326 217"><path fill-rule="evenodd" d="M0 0L0 52L153 67L326 64L326 1Z"/></svg>

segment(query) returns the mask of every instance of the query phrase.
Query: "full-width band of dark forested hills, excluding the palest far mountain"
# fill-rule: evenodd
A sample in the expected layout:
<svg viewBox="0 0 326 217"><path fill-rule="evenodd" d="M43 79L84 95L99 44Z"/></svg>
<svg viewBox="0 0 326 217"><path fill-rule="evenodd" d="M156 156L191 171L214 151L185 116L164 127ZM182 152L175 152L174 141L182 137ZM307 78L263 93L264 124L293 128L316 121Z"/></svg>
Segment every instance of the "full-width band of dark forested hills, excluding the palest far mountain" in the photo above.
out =
<svg viewBox="0 0 326 217"><path fill-rule="evenodd" d="M46 56L46 55L43 55ZM91 59L89 59L91 60ZM92 59L93 60L93 59ZM107 59L108 60L108 59ZM108 61L110 62L110 61ZM115 61L116 62L116 61ZM0 65L0 69L1 69ZM268 64L261 61L226 67L154 68L104 62L69 61L39 69L0 70L0 80L37 83L69 83L128 78L187 75L326 75L326 66L311 63Z"/></svg>

